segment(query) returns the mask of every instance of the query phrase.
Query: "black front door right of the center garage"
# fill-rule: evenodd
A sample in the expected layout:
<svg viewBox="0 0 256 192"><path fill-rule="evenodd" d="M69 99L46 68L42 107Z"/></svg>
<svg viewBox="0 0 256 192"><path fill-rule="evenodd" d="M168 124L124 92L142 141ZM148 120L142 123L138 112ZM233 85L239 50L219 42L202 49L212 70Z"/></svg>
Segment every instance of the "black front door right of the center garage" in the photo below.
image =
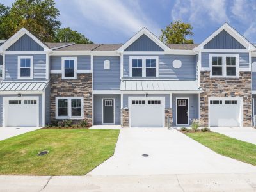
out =
<svg viewBox="0 0 256 192"><path fill-rule="evenodd" d="M188 124L188 99L177 99L177 124Z"/></svg>

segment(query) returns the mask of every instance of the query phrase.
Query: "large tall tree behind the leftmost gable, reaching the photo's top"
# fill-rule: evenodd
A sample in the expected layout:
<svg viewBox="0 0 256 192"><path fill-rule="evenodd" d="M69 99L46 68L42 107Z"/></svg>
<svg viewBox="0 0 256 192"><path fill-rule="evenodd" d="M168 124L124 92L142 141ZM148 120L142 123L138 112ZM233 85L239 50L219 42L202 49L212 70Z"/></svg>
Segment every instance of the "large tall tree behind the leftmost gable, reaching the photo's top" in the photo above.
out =
<svg viewBox="0 0 256 192"><path fill-rule="evenodd" d="M20 28L28 29L33 35L45 42L52 42L60 21L56 20L59 10L54 0L17 0L10 12L2 18L0 36L10 38Z"/></svg>

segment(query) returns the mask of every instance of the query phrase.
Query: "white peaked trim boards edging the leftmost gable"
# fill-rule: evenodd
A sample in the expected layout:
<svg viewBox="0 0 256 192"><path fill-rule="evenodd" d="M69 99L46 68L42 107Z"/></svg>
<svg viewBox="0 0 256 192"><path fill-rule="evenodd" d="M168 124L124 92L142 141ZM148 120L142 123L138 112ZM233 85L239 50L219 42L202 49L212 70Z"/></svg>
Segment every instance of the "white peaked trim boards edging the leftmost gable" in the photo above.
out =
<svg viewBox="0 0 256 192"><path fill-rule="evenodd" d="M47 45L44 44L44 42L41 42L38 38L36 38L35 35L30 33L27 29L21 28L17 33L15 33L13 36L11 36L8 40L6 40L1 46L0 46L0 52L5 51L8 49L11 45L13 45L19 38L21 38L23 35L28 35L30 38L32 38L38 45L43 47L44 51L51 51Z"/></svg>

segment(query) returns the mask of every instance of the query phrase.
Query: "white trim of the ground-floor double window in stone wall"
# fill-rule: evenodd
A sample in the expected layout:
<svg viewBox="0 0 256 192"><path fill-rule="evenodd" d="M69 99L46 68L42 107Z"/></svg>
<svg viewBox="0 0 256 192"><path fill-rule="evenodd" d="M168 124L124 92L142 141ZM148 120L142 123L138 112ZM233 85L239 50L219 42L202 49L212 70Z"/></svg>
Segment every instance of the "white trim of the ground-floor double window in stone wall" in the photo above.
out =
<svg viewBox="0 0 256 192"><path fill-rule="evenodd" d="M68 116L58 116L58 100L59 99L67 99L68 100ZM81 116L71 116L71 99L81 99ZM55 118L56 119L84 119L84 98L83 97L56 97L55 98Z"/></svg>

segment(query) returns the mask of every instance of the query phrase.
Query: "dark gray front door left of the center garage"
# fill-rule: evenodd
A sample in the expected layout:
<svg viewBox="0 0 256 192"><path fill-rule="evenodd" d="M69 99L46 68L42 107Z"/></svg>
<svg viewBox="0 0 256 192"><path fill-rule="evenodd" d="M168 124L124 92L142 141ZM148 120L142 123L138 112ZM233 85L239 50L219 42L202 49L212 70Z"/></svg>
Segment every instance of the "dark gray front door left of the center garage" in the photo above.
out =
<svg viewBox="0 0 256 192"><path fill-rule="evenodd" d="M103 124L114 124L114 99L103 99Z"/></svg>

